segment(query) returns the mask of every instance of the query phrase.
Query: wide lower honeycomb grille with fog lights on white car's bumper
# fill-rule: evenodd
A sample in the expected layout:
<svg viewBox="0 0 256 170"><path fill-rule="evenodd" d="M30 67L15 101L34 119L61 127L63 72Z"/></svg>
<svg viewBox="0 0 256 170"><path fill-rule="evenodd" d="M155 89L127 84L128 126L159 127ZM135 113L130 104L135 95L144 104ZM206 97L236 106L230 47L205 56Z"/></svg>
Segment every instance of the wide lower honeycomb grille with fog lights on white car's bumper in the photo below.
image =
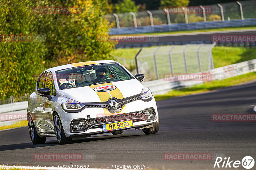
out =
<svg viewBox="0 0 256 170"><path fill-rule="evenodd" d="M131 113L124 113L119 115L111 115L111 116L105 116L105 117L96 117L96 118L90 118L90 119L79 119L74 120L71 123L71 132L83 132L87 131L88 129L92 128L93 126L99 125L99 124L105 124L108 122L115 122L115 121L122 121L122 120L142 120L142 121L152 121L156 119L156 115L153 112L153 110L148 109L149 113L152 113L154 116L150 119L148 119L148 116L145 115L144 111L138 111L138 112L131 112ZM84 125L80 126L82 127L81 130L74 129L75 125L78 125L79 122L84 121ZM99 127L99 126L97 126ZM100 126L102 127L102 126Z"/></svg>

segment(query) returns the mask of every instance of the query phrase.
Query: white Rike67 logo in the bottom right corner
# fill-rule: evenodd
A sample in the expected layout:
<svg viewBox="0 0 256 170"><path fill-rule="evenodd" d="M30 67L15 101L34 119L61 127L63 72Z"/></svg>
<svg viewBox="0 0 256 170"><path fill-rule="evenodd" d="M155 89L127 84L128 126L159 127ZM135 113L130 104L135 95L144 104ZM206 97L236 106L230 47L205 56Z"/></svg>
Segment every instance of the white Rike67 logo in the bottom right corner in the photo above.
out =
<svg viewBox="0 0 256 170"><path fill-rule="evenodd" d="M223 162L222 162L223 161ZM217 166L218 168L238 168L239 166L243 166L245 169L251 169L254 166L254 159L251 156L245 156L242 161L240 160L231 160L230 157L228 159L225 157L222 159L221 157L217 157L214 163L214 168Z"/></svg>

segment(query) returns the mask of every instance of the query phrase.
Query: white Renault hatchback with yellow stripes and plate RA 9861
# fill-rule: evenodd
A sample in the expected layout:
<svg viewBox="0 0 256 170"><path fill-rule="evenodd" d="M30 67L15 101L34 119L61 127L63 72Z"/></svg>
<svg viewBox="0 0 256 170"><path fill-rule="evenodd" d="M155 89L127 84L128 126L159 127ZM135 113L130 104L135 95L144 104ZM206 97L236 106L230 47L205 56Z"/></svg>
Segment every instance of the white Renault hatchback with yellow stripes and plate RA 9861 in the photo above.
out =
<svg viewBox="0 0 256 170"><path fill-rule="evenodd" d="M121 134L129 128L145 134L159 130L151 91L113 60L86 61L45 70L28 100L31 141L56 137L60 144L90 135Z"/></svg>

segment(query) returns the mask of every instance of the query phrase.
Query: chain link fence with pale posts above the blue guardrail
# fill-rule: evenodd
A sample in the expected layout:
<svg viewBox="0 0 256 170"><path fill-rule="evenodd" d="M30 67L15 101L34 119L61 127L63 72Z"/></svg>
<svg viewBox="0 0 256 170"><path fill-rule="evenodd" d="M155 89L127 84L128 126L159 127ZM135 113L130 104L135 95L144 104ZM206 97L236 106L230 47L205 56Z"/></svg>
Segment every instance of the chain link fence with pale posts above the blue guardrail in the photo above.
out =
<svg viewBox="0 0 256 170"><path fill-rule="evenodd" d="M204 11L203 12L203 8ZM239 1L194 7L166 7L163 10L139 11L108 14L104 17L115 27L154 26L202 21L220 21L244 18L256 18L256 1ZM222 10L221 10L222 9ZM242 9L242 10L241 10ZM167 11L166 11L167 10ZM186 11L186 12L185 12ZM222 18L223 16L223 18Z"/></svg>

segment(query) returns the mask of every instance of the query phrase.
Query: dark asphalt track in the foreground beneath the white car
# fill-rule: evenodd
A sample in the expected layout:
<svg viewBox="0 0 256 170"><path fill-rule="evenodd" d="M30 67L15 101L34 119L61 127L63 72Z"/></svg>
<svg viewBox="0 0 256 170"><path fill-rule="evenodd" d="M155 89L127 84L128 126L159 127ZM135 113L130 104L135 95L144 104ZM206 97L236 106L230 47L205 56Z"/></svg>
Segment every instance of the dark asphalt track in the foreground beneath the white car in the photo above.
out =
<svg viewBox="0 0 256 170"><path fill-rule="evenodd" d="M199 95L158 101L160 130L144 135L127 130L121 135L92 136L68 145L47 138L33 145L28 128L0 131L0 164L4 165L146 165L146 169L225 169L213 168L214 160L163 160L164 153L223 154L232 160L256 158L255 122L213 122L212 114L255 114L256 81ZM81 161L35 161L35 153L82 153ZM86 156L87 155L87 156ZM93 157L89 158L89 155ZM252 169L255 169L256 165ZM226 168L235 169L235 168ZM244 169L241 165L236 169Z"/></svg>

